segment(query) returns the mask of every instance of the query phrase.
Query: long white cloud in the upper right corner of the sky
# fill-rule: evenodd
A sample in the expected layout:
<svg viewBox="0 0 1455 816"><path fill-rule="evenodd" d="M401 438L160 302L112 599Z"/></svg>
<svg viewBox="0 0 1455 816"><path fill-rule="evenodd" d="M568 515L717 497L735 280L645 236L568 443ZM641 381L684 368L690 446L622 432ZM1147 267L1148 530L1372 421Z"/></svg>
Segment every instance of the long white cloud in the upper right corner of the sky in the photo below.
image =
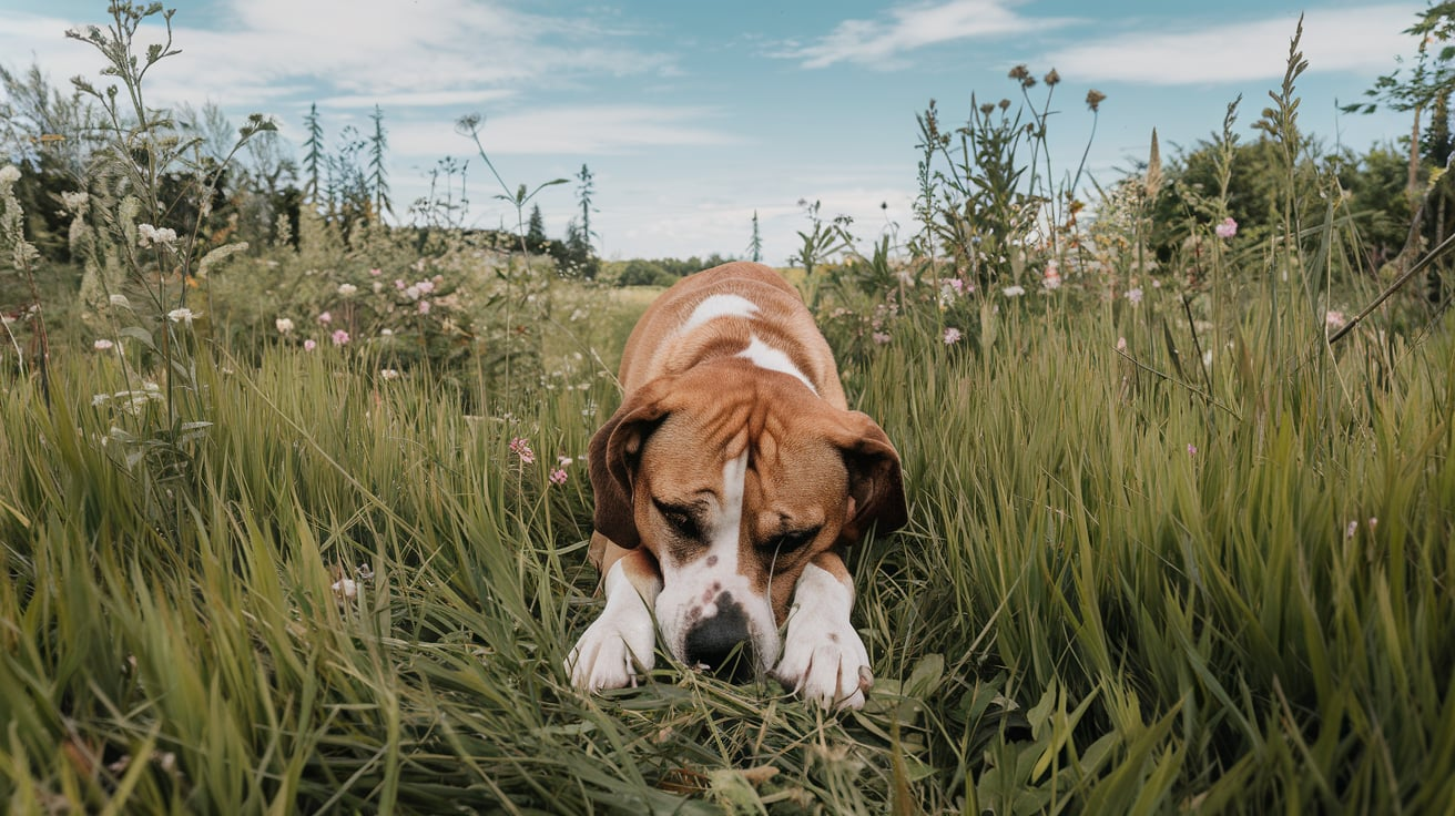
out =
<svg viewBox="0 0 1455 816"><path fill-rule="evenodd" d="M1314 10L1304 20L1301 49L1310 71L1362 71L1371 76L1410 51L1408 6ZM1229 22L1196 29L1139 31L1101 42L1071 45L1046 64L1085 81L1199 84L1282 77L1298 15Z"/></svg>

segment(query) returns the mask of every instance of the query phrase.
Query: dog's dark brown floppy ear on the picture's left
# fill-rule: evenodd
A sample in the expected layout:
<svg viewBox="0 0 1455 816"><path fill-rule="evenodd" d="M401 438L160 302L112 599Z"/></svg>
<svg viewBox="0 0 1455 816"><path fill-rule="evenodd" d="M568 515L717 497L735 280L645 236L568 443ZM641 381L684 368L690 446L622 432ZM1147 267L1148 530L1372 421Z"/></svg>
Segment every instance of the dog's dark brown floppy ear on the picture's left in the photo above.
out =
<svg viewBox="0 0 1455 816"><path fill-rule="evenodd" d="M594 525L613 544L634 550L642 544L633 512L631 484L642 460L646 438L662 423L666 407L661 380L637 390L621 403L617 413L591 436L588 468L591 490L597 496Z"/></svg>

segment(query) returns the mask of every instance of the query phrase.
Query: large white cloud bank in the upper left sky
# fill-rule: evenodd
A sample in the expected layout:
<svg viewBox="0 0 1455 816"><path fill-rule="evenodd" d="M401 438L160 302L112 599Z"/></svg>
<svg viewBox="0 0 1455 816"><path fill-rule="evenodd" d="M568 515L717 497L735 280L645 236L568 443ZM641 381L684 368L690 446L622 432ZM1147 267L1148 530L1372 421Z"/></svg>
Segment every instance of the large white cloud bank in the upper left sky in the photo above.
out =
<svg viewBox="0 0 1455 816"><path fill-rule="evenodd" d="M589 19L549 17L476 0L228 0L215 29L195 28L183 9L175 23L180 54L147 76L156 103L226 99L365 99L410 102L419 90L441 103L487 99L486 92L560 86L579 77L668 73L666 54L633 48ZM196 19L196 17L192 17ZM137 49L160 42L150 17ZM89 17L0 10L0 54L33 52L52 76L100 81L100 55L63 32ZM448 96L458 95L458 96ZM364 102L372 105L372 102Z"/></svg>

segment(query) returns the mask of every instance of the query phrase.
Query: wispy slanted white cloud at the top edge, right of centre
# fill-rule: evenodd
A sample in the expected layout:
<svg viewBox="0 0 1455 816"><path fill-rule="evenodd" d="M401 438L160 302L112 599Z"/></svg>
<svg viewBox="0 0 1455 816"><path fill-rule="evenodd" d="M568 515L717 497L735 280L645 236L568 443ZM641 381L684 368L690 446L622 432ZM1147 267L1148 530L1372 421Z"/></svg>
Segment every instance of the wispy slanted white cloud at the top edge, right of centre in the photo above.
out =
<svg viewBox="0 0 1455 816"><path fill-rule="evenodd" d="M902 54L956 39L1045 31L1069 20L1033 19L1014 12L1020 0L950 0L889 10L888 20L844 20L818 42L790 47L778 57L802 60L806 68L860 63L874 68L901 67Z"/></svg>

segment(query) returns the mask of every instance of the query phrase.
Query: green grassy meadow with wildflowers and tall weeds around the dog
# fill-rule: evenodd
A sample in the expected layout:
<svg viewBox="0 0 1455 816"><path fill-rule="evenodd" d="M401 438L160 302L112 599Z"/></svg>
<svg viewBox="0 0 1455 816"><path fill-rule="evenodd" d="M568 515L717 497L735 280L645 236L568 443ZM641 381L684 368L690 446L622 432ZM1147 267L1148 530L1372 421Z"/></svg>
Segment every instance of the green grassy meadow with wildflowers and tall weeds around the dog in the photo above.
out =
<svg viewBox="0 0 1455 816"><path fill-rule="evenodd" d="M789 276L911 505L848 557L876 671L850 713L665 652L639 688L563 673L601 607L586 439L655 289L320 214L247 249L167 234L141 214L179 212L186 144L138 141L169 127L146 115L67 202L63 269L0 170L39 304L0 356L0 801L1448 812L1455 333L1406 285L1442 249L1365 263L1359 201L1296 147L1296 67L1257 227L1231 106L1221 189L1164 183L1154 137L1077 223L1035 173L992 195L997 160L1024 170L1005 108L953 134L931 109L914 239L861 253L809 211ZM1189 240L1158 255L1173 193Z"/></svg>

